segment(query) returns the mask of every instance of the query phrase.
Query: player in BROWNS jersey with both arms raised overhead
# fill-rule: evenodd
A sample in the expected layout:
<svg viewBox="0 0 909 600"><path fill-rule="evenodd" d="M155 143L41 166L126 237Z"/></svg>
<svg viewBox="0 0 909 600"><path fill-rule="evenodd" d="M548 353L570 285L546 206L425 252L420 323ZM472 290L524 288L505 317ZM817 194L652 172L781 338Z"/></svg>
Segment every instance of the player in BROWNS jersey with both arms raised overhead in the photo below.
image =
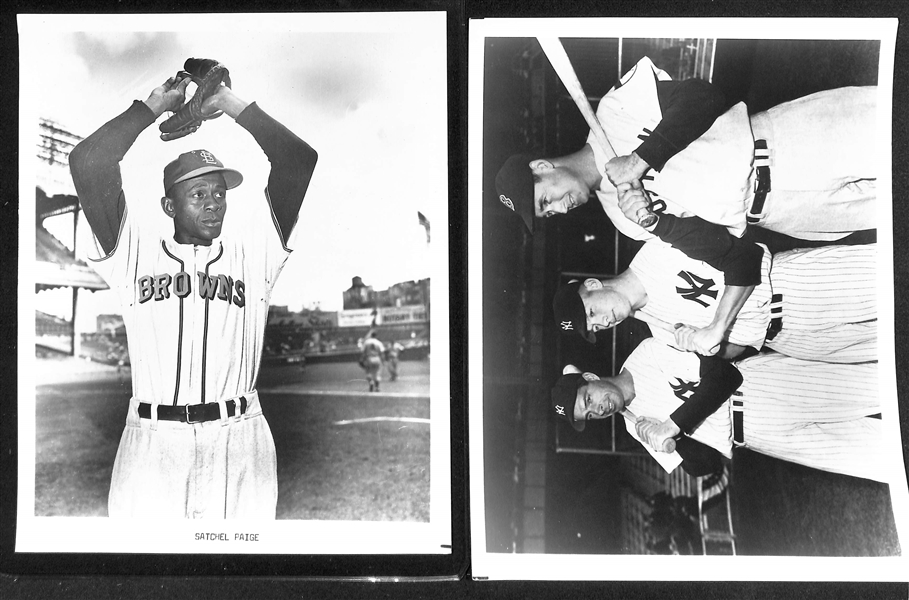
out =
<svg viewBox="0 0 909 600"><path fill-rule="evenodd" d="M70 155L100 248L95 268L122 302L133 365L111 480L112 517L275 517L275 446L255 385L269 295L290 254L287 240L317 155L220 75L212 84L218 67L190 59L186 78L171 77L134 101ZM221 228L228 191L243 177L208 150L182 153L164 167L163 197L156 198L173 220L172 235L135 218L129 209L135 200L128 203L122 189L120 162L143 131L166 111L184 116L189 75L205 90L190 101L195 117L230 115L271 163L264 193L249 190L239 199L258 210L236 238L222 238ZM165 121L162 138L201 124L190 121ZM140 193L153 195L157 185Z"/></svg>

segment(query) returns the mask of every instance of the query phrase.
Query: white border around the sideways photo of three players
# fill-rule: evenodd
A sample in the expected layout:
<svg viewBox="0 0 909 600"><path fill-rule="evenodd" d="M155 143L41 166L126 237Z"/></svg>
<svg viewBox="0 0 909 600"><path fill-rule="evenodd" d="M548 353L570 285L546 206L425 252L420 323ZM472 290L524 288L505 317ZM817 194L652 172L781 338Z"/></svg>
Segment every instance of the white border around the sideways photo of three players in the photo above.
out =
<svg viewBox="0 0 909 600"><path fill-rule="evenodd" d="M810 27L807 25L810 23ZM894 581L909 580L909 489L902 460L897 404L893 314L893 233L890 210L880 211L879 389L892 402L882 409L887 448L892 459L891 501L902 547L896 557L757 557L507 554L487 552L483 465L482 203L484 43L491 37L719 38L880 40L879 132L883 169L878 189L886 191L881 207L892 205L892 89L895 18L540 18L474 19L468 40L468 260L470 379L471 566L475 579L511 580L711 580L711 581ZM760 35L756 35L758 32ZM858 507L857 507L858 509ZM592 575L595 574L595 575Z"/></svg>

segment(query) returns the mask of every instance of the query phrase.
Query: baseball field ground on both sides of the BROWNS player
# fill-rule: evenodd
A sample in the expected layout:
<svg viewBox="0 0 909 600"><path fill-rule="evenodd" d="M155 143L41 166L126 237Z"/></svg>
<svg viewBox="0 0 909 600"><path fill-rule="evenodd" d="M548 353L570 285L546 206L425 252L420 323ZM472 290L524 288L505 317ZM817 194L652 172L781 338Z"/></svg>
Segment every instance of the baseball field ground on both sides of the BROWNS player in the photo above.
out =
<svg viewBox="0 0 909 600"><path fill-rule="evenodd" d="M106 516L128 368L41 359L37 371L35 514ZM429 520L429 361L385 379L370 394L355 362L263 369L279 519Z"/></svg>

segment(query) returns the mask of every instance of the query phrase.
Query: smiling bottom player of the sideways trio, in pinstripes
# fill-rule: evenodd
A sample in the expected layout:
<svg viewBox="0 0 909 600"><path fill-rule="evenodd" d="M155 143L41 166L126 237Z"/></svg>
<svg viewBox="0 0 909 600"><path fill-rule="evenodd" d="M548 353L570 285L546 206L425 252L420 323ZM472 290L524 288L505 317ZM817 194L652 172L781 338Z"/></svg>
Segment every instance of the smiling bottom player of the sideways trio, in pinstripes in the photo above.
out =
<svg viewBox="0 0 909 600"><path fill-rule="evenodd" d="M628 432L667 472L686 467L690 454L682 454L691 445L727 458L738 446L887 482L877 363L836 365L769 352L733 364L647 338L615 377L566 368L552 405L576 430L622 414ZM669 439L677 450L666 452Z"/></svg>

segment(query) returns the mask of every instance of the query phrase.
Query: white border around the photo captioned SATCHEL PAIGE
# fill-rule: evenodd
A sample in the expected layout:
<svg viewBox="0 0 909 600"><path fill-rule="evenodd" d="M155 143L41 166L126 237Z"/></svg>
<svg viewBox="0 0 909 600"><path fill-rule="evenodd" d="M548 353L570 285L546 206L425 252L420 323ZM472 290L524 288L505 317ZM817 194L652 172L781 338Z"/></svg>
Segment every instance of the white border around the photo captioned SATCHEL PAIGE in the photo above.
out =
<svg viewBox="0 0 909 600"><path fill-rule="evenodd" d="M195 18L194 18L195 17ZM447 15L444 11L389 13L256 13L182 15L19 15L20 64L23 77L37 77L40 57L23 51L22 34L73 31L197 31L198 23L219 31L394 32L434 30L440 48L439 67L447 69ZM43 60L48 60L44 57ZM267 60L267 57L263 57ZM419 77L419 73L414 73ZM25 87L25 86L24 86ZM448 131L448 79L440 78L434 94L442 105L440 126ZM75 93L75 92L73 92ZM80 91L79 93L90 93ZM448 212L435 224L432 255L432 312L430 354L430 518L428 523L354 521L179 521L107 517L35 517L35 314L34 263L35 152L39 115L26 96L19 104L19 286L18 286L18 515L15 551L23 553L161 553L161 554L286 554L286 555L449 555L452 553L451 391ZM449 190L448 162L442 168ZM441 200L440 200L441 201ZM460 493L460 492L458 492ZM197 533L224 533L228 542L196 540ZM257 533L257 542L237 542L238 533ZM356 574L356 573L353 573ZM301 573L302 575L302 573Z"/></svg>

